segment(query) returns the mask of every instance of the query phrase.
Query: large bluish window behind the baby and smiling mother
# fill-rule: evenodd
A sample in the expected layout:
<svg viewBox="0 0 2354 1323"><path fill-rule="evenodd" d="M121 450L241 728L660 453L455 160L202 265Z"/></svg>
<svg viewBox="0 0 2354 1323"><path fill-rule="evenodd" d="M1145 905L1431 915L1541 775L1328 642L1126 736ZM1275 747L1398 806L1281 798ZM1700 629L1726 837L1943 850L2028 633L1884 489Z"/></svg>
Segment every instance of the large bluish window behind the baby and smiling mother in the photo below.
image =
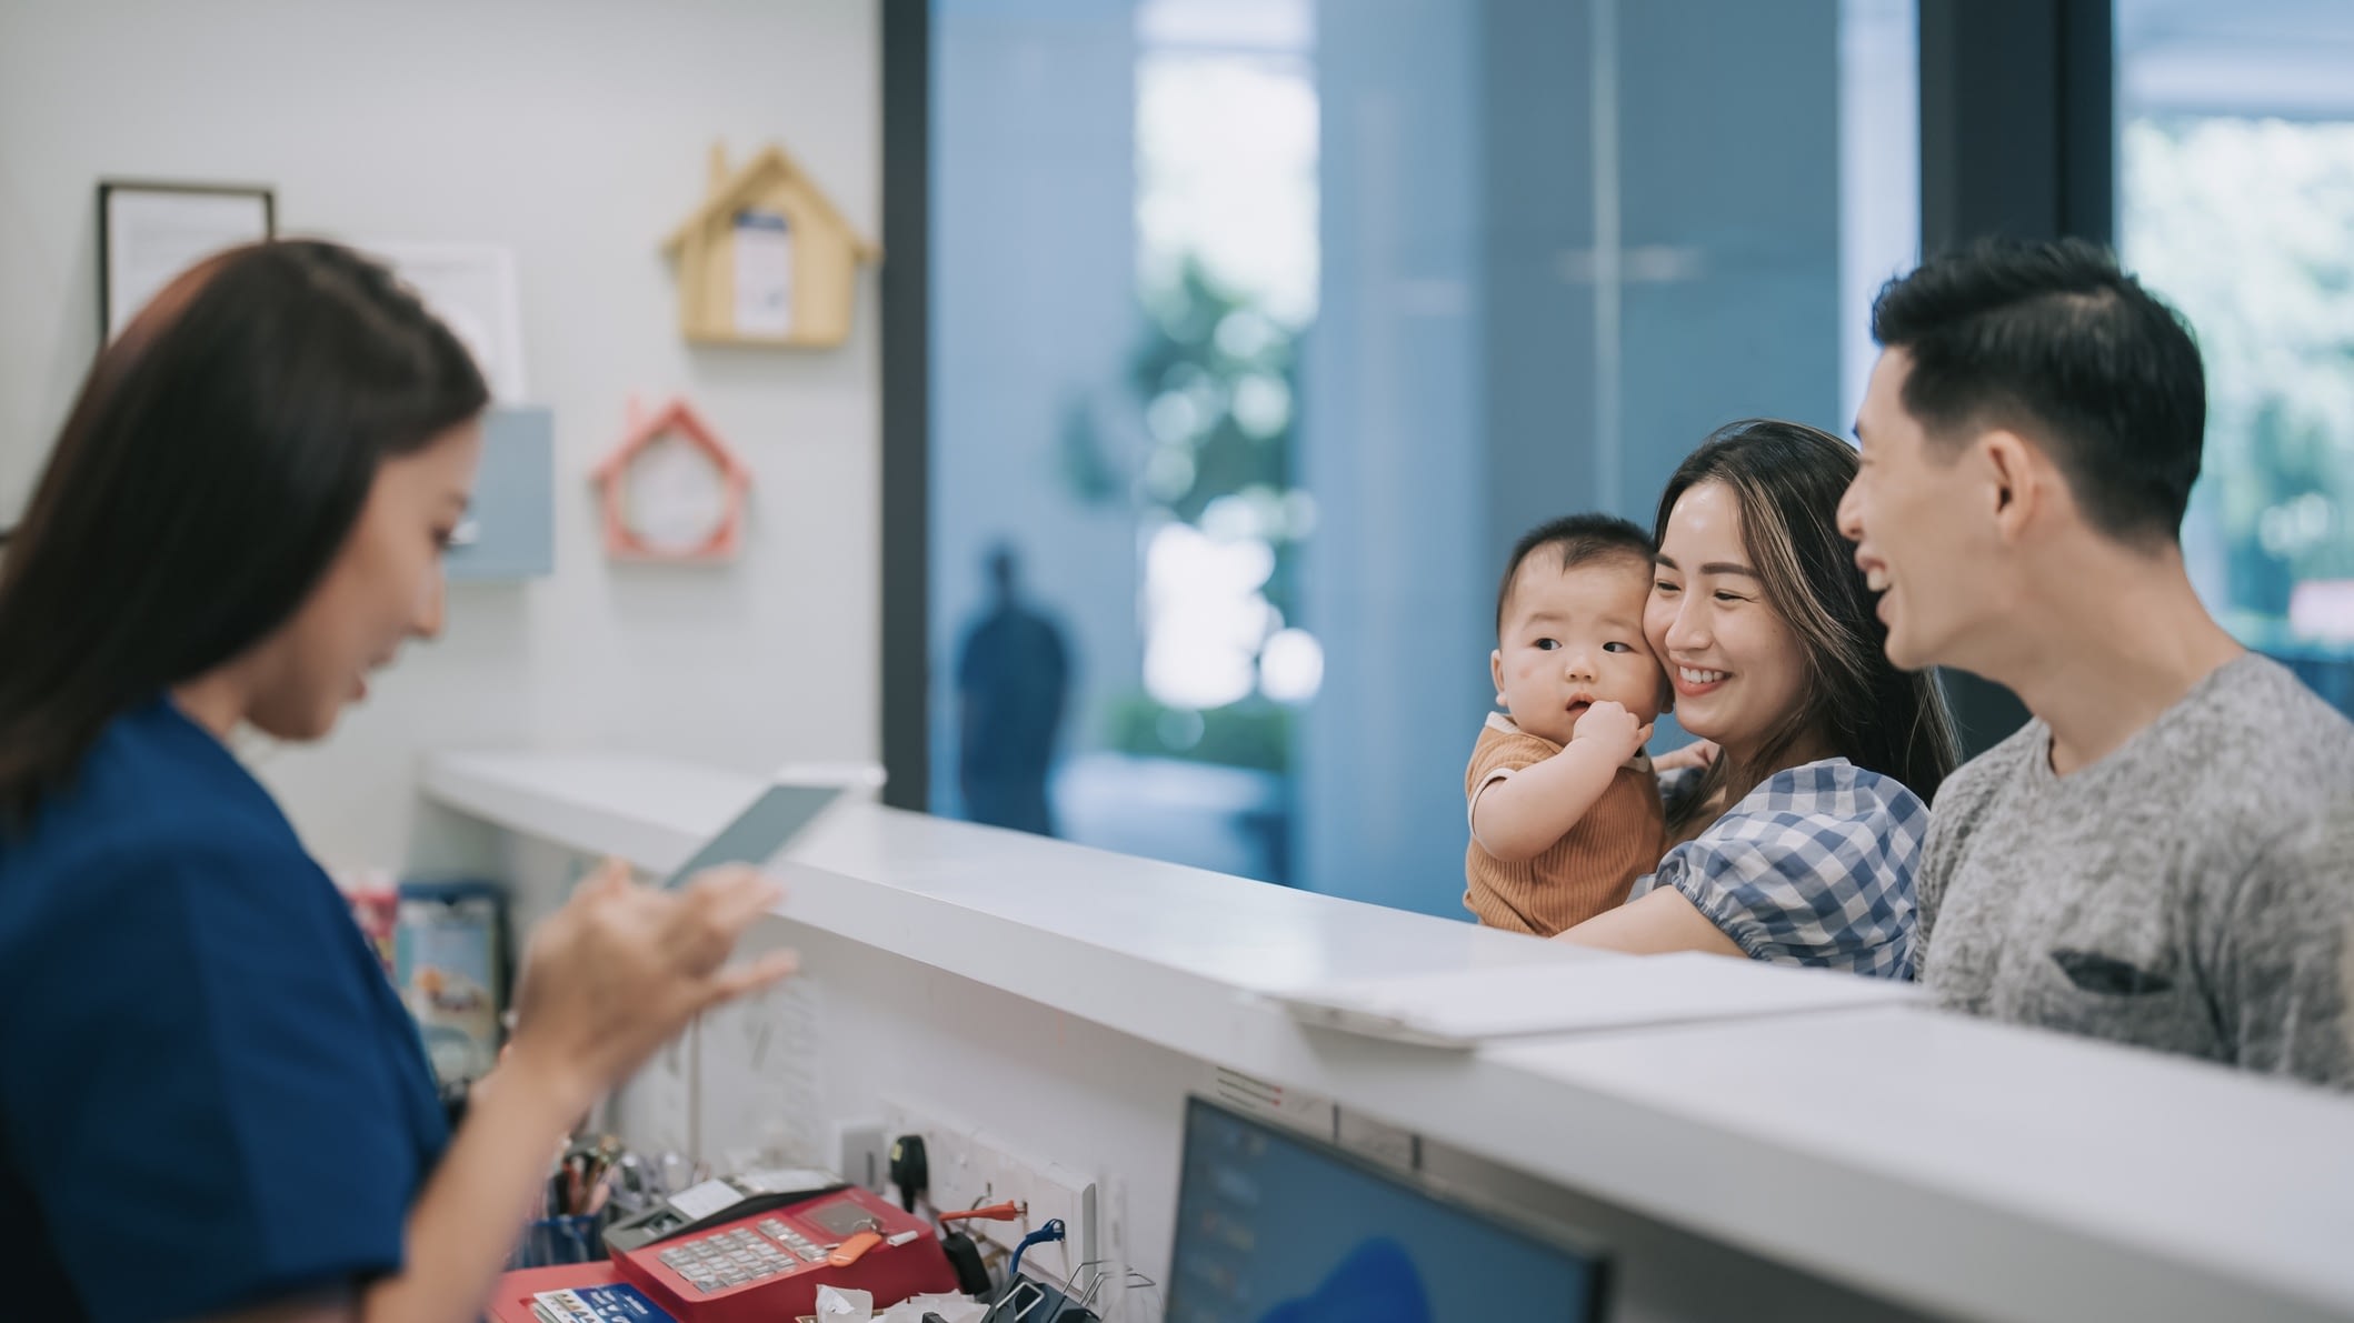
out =
<svg viewBox="0 0 2354 1323"><path fill-rule="evenodd" d="M932 0L932 807L1462 913L1511 541L1853 417L1911 9Z"/></svg>

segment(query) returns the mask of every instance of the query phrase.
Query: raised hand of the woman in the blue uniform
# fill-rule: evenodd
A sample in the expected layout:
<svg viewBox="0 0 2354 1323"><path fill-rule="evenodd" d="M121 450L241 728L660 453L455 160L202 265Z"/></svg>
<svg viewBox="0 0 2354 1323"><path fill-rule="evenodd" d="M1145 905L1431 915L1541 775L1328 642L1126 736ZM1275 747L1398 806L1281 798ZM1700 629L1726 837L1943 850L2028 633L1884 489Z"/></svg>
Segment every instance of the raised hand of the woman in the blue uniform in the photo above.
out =
<svg viewBox="0 0 2354 1323"><path fill-rule="evenodd" d="M676 892L631 880L607 859L532 935L516 984L511 1066L551 1081L586 1111L654 1048L723 1000L784 979L791 951L727 965L737 937L784 895L742 866L697 873Z"/></svg>

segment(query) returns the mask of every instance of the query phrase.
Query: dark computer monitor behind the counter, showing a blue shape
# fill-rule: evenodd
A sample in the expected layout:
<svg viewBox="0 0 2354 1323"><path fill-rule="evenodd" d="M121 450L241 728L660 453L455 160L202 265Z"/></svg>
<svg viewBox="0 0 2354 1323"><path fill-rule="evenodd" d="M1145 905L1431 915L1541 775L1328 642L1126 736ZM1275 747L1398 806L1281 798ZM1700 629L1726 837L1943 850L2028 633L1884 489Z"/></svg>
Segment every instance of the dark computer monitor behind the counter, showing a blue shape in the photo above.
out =
<svg viewBox="0 0 2354 1323"><path fill-rule="evenodd" d="M1186 1102L1168 1323L1594 1323L1608 1257Z"/></svg>

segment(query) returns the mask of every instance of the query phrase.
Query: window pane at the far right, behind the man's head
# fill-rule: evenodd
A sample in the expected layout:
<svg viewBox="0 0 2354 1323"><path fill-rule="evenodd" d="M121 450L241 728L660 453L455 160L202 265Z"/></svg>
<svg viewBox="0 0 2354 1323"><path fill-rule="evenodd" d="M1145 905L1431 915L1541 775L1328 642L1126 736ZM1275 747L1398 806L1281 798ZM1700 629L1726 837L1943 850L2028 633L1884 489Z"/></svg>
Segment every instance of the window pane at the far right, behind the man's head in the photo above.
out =
<svg viewBox="0 0 2354 1323"><path fill-rule="evenodd" d="M2208 374L2192 579L2354 709L2354 9L2119 0L2116 40L2119 247Z"/></svg>

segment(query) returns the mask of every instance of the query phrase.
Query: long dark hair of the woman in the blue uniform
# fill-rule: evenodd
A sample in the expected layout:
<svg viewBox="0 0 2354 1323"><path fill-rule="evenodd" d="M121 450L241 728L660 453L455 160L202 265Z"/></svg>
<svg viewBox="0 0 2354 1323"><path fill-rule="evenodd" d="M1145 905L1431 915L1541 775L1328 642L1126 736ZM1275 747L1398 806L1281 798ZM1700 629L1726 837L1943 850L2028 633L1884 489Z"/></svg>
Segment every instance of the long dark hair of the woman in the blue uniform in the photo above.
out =
<svg viewBox="0 0 2354 1323"><path fill-rule="evenodd" d="M377 466L483 412L466 348L327 242L224 252L99 353L0 558L0 822L106 725L275 633Z"/></svg>

